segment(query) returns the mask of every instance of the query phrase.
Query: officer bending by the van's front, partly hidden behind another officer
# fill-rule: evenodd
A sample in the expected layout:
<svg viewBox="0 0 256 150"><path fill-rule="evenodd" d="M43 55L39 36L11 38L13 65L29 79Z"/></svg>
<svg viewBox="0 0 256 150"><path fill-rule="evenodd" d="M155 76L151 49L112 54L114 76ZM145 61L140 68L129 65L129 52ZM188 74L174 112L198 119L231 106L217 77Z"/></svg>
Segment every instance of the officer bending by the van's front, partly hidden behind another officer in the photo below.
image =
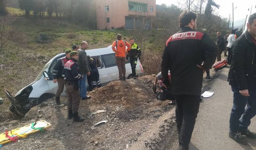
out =
<svg viewBox="0 0 256 150"><path fill-rule="evenodd" d="M57 64L52 69L53 82L58 82L58 90L56 92L55 98L57 105L60 105L60 94L63 92L64 85L66 84L66 81L62 77L62 71L64 69L64 64L66 64L66 62L68 62L68 60L70 59L70 52L70 49L66 49L66 57L58 60Z"/></svg>

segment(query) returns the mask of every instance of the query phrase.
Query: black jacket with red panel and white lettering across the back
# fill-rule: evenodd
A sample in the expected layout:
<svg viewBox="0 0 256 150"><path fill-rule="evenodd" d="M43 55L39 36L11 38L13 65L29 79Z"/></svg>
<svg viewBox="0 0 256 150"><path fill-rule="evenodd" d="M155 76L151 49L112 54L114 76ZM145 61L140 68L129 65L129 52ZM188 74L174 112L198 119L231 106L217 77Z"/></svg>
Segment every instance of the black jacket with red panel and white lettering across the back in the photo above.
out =
<svg viewBox="0 0 256 150"><path fill-rule="evenodd" d="M171 93L174 95L200 95L204 64L206 70L212 67L217 56L216 44L203 32L183 27L166 42L162 56L162 74L172 75Z"/></svg>

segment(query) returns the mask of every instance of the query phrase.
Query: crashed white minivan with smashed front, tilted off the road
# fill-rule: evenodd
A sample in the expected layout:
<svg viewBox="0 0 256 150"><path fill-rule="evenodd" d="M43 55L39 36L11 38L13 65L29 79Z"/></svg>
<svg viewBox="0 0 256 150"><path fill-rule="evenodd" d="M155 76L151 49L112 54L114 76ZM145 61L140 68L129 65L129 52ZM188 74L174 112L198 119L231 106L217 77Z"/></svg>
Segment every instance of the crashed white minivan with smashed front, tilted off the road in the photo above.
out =
<svg viewBox="0 0 256 150"><path fill-rule="evenodd" d="M102 86L118 78L119 75L118 68L116 66L115 53L112 51L111 46L107 48L86 50L86 53L88 56L96 60ZM57 60L64 57L65 53L61 53L52 58L40 71L35 81L22 88L15 96L12 96L8 90L5 90L6 96L11 102L9 110L12 113L18 116L24 116L30 108L55 96L58 90L58 84L53 83L52 81L52 69L57 63ZM130 60L126 62L125 67L126 78L132 78ZM137 74L142 76L144 71L140 63L137 64L136 70ZM66 90L64 89L62 96L65 95Z"/></svg>

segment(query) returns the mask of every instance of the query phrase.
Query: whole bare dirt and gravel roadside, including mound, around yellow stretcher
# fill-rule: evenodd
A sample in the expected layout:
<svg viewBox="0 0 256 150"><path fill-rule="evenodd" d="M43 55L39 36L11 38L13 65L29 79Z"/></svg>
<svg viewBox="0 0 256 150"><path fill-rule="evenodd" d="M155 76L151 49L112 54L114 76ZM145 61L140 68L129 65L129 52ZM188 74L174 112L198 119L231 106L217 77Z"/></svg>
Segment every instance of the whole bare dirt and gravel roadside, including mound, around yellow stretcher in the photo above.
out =
<svg viewBox="0 0 256 150"><path fill-rule="evenodd" d="M155 99L152 91L153 76L137 80L114 81L88 95L92 99L80 102L79 116L82 123L67 118L66 97L62 105L49 99L33 107L22 120L0 123L0 132L25 126L38 120L51 124L45 132L32 134L15 144L4 144L3 150L56 149L56 150L116 150L127 149L146 132L165 112L172 109L169 101ZM101 113L97 110L104 110ZM106 123L94 126L97 122Z"/></svg>

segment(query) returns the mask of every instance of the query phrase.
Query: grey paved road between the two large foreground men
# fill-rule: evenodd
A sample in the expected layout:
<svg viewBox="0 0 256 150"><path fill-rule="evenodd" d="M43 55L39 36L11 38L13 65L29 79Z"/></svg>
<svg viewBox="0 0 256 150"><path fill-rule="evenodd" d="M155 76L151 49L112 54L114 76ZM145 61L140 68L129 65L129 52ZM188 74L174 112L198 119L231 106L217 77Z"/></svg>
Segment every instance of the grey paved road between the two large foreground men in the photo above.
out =
<svg viewBox="0 0 256 150"><path fill-rule="evenodd" d="M256 140L249 140L249 145L240 145L228 137L229 117L232 108L231 88L227 76L229 68L219 70L205 90L214 95L204 98L190 142L190 150L256 150ZM250 130L256 132L256 117Z"/></svg>

